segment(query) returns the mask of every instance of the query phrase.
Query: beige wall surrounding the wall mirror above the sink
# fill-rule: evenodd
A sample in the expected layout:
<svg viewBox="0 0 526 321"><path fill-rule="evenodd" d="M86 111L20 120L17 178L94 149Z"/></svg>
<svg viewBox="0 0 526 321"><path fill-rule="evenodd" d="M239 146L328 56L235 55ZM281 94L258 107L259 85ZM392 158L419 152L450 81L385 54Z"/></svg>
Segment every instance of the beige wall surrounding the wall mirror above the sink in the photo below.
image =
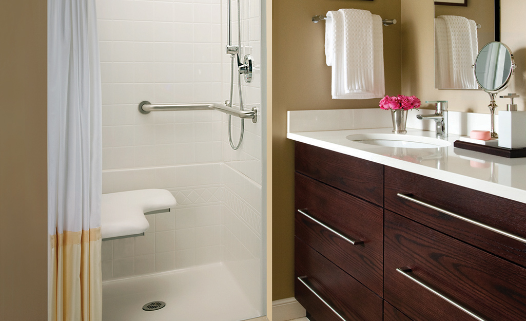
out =
<svg viewBox="0 0 526 321"><path fill-rule="evenodd" d="M451 111L489 114L489 96L482 91L434 89L433 2L402 0L401 5L402 92L417 95L422 101L447 100ZM525 11L526 2L501 0L501 41L510 47L518 65L509 88L502 94L520 94L521 98L515 99L519 110L524 110L526 99L526 24L521 23ZM497 112L507 103L508 99L497 98Z"/></svg>

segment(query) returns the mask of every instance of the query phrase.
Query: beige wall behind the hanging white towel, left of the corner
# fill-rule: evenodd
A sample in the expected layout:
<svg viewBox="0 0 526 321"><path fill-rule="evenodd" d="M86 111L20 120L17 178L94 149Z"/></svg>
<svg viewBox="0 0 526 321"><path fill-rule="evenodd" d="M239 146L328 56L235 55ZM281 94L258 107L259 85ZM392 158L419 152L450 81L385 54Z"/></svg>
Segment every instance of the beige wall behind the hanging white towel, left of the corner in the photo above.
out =
<svg viewBox="0 0 526 321"><path fill-rule="evenodd" d="M325 64L325 22L312 16L339 8L367 9L400 21L400 0L275 0L272 2L272 299L294 296L294 144L287 111L367 108L379 99L331 99ZM400 24L383 28L386 93L401 91Z"/></svg>

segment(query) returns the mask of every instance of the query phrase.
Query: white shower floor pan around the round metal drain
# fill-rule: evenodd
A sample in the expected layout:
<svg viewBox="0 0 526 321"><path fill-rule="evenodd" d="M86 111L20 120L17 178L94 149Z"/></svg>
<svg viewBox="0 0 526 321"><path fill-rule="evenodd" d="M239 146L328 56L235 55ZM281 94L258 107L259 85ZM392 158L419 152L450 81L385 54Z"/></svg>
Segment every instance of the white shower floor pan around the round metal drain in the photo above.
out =
<svg viewBox="0 0 526 321"><path fill-rule="evenodd" d="M166 306L143 310L152 301ZM238 321L257 316L221 263L103 283L103 321Z"/></svg>

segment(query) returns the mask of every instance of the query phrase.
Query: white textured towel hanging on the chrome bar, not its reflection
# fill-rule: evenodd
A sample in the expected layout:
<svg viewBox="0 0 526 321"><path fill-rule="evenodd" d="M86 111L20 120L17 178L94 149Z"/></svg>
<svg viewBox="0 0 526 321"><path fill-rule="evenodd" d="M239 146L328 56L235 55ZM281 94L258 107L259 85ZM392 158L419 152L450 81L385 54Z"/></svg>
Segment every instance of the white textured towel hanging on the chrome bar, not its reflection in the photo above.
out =
<svg viewBox="0 0 526 321"><path fill-rule="evenodd" d="M326 63L331 66L333 99L385 95L382 18L359 9L329 11Z"/></svg>

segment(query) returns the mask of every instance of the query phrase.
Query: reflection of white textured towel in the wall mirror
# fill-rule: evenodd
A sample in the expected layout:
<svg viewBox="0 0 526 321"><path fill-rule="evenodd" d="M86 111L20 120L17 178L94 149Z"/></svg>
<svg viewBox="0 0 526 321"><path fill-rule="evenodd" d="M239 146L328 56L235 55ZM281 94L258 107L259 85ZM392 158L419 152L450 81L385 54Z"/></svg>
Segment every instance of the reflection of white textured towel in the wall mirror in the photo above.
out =
<svg viewBox="0 0 526 321"><path fill-rule="evenodd" d="M478 85L472 67L478 54L477 24L460 16L439 16L438 18L443 19L446 25L449 68L452 75L450 77L452 86L449 88L477 89Z"/></svg>

